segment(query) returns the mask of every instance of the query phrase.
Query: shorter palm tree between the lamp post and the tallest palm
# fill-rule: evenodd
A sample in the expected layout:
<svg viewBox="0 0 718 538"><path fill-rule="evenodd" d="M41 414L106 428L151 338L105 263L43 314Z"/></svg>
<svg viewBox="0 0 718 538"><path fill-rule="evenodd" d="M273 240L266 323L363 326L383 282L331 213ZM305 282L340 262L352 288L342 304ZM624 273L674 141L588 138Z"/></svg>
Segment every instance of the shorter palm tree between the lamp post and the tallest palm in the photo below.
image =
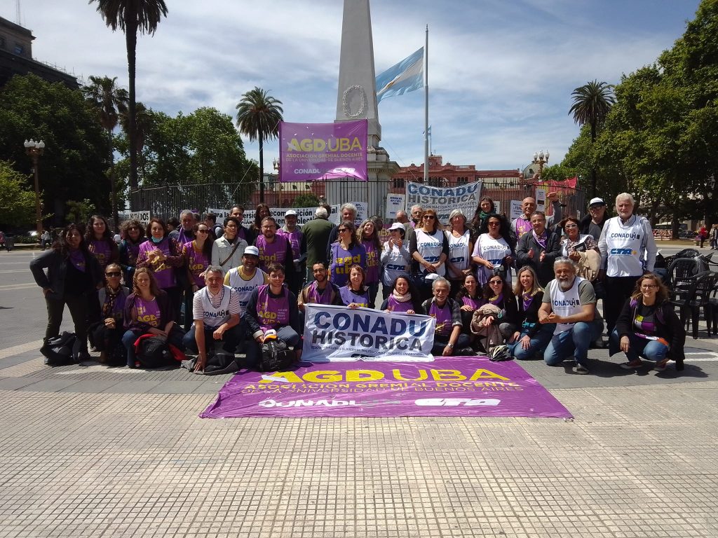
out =
<svg viewBox="0 0 718 538"><path fill-rule="evenodd" d="M117 127L119 115L127 110L127 90L118 88L117 77L93 77L90 75L90 85L83 87L85 99L90 106L97 110L100 124L107 131L107 145L110 163L110 207L114 229L119 229L117 217L117 194L115 185L115 157L112 144L112 131Z"/></svg>

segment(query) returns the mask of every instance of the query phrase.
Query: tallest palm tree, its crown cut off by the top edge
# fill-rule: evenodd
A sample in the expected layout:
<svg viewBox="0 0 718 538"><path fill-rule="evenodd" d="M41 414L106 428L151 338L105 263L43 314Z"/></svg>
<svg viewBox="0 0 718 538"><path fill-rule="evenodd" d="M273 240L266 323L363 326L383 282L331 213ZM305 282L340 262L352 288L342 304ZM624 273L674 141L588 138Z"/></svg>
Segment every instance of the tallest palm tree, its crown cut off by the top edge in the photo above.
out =
<svg viewBox="0 0 718 538"><path fill-rule="evenodd" d="M167 16L164 0L90 0L97 2L97 10L113 32L125 33L127 66L129 71L129 141L130 141L130 190L137 188L137 150L134 143L135 123L135 60L137 32L154 34L162 16Z"/></svg>

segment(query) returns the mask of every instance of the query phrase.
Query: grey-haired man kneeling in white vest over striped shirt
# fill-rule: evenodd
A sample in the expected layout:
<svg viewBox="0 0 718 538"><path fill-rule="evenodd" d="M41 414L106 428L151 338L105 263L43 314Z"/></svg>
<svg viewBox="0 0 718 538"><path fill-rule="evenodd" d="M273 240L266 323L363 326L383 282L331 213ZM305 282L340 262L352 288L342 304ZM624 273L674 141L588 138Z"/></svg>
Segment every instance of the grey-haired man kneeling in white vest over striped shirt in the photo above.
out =
<svg viewBox="0 0 718 538"><path fill-rule="evenodd" d="M187 350L197 353L195 372L205 369L213 344L221 341L224 351L233 355L246 335L246 327L239 317L238 293L223 285L223 278L222 268L208 266L205 270L206 286L192 298L195 329L185 334L182 343Z"/></svg>

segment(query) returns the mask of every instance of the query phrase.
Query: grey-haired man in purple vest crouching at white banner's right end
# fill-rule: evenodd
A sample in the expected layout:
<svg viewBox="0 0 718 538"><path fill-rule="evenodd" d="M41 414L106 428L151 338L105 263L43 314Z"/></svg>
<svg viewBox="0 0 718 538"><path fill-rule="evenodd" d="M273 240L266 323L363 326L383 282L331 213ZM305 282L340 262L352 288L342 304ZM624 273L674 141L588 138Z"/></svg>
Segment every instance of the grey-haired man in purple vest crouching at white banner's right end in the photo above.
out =
<svg viewBox="0 0 718 538"><path fill-rule="evenodd" d="M432 347L435 357L451 357L456 351L470 346L469 337L461 331L459 304L449 299L450 290L449 280L442 276L435 278L432 283L434 297L426 299L422 305L426 314L437 320Z"/></svg>

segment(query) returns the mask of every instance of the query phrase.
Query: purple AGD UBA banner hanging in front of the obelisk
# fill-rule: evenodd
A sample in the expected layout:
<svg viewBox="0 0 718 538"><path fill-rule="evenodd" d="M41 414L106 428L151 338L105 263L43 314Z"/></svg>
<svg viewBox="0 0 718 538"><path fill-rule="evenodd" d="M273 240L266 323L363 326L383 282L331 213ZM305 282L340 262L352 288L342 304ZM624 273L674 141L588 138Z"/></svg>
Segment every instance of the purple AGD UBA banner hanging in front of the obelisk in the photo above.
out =
<svg viewBox="0 0 718 538"><path fill-rule="evenodd" d="M281 181L367 180L368 121L279 123Z"/></svg>

